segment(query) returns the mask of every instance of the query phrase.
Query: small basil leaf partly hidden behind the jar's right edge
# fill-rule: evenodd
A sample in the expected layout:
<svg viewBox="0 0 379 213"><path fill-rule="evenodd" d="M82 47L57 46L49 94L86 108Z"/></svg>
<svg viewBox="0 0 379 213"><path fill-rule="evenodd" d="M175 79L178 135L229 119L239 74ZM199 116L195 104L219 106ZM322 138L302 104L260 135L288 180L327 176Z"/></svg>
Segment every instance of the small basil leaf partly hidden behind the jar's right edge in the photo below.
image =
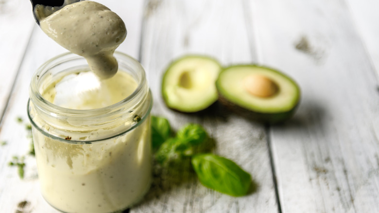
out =
<svg viewBox="0 0 379 213"><path fill-rule="evenodd" d="M163 117L151 116L151 135L153 150L156 150L163 142L170 138L171 126Z"/></svg>

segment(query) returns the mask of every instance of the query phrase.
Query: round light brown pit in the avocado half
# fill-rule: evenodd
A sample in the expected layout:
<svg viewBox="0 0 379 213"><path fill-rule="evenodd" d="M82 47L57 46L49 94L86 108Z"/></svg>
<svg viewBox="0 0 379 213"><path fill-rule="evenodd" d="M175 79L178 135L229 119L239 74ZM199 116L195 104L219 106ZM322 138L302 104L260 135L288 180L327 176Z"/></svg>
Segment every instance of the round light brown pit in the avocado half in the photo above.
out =
<svg viewBox="0 0 379 213"><path fill-rule="evenodd" d="M269 77L261 74L250 74L243 80L243 88L251 95L268 98L278 91L277 84Z"/></svg>

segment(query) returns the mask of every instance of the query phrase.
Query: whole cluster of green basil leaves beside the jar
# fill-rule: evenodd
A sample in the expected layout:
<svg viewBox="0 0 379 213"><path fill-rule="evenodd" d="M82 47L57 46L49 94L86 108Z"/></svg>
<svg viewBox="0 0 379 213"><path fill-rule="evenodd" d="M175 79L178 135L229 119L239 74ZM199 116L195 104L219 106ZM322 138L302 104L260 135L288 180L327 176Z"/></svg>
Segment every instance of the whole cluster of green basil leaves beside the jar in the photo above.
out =
<svg viewBox="0 0 379 213"><path fill-rule="evenodd" d="M232 196L243 196L252 184L250 174L235 162L204 152L202 145L208 140L206 130L199 124L187 124L171 137L171 126L167 119L152 116L152 143L155 160L167 166L169 162L181 162L190 157L191 164L200 182L213 190Z"/></svg>

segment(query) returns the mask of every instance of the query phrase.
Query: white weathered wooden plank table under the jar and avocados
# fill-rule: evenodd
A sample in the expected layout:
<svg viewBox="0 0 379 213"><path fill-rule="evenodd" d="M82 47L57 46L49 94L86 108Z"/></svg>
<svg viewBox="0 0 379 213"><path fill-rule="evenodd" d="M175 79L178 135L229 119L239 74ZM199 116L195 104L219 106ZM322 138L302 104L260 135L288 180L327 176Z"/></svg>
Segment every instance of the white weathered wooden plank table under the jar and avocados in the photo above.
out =
<svg viewBox="0 0 379 213"><path fill-rule="evenodd" d="M175 129L204 125L217 143L214 152L240 164L258 186L235 198L203 187L189 173L162 174L129 212L379 212L378 0L99 2L126 23L118 50L145 67L153 114ZM24 125L32 73L63 52L34 22L29 0L0 0L0 141L7 142L0 146L1 213L57 212L40 195L34 158L26 158L23 180L8 162L29 150ZM161 76L187 53L287 73L302 90L298 111L285 124L262 125L220 105L200 115L169 110ZM29 205L22 209L21 201Z"/></svg>

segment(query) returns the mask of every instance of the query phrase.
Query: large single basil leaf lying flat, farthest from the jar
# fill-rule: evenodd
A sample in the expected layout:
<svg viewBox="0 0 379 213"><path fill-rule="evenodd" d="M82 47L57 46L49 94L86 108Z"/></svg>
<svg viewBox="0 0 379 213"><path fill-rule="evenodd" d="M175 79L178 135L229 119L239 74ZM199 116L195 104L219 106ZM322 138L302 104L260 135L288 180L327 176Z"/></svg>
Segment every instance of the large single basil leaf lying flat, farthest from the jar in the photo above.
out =
<svg viewBox="0 0 379 213"><path fill-rule="evenodd" d="M248 193L251 176L235 162L213 154L193 156L191 162L204 186L232 196Z"/></svg>

